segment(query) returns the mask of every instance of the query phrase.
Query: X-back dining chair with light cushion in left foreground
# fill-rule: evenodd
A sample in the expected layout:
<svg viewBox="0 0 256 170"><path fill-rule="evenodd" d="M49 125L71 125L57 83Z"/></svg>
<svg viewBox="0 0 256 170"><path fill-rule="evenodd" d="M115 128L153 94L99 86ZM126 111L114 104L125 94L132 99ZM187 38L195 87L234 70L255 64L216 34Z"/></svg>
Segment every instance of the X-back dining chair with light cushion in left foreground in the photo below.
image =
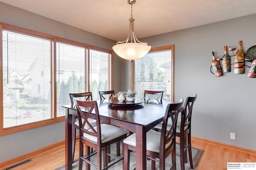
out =
<svg viewBox="0 0 256 170"><path fill-rule="evenodd" d="M90 170L92 165L97 170L106 170L110 166L121 161L122 158L110 155L108 147L111 144L121 141L126 138L127 131L109 124L100 124L100 115L98 111L97 101L80 101L73 99L76 104L79 121L79 170L82 170L82 162L86 162L86 170ZM91 125L88 121L89 117L93 116L96 120L96 127ZM84 119L84 121L82 121ZM84 126L88 125L88 129ZM85 157L84 157L84 145ZM97 151L93 154L90 153L90 147L95 148ZM103 168L102 168L102 150L103 150ZM97 165L90 161L90 157L97 154ZM112 156L116 160L108 165L107 156Z"/></svg>

